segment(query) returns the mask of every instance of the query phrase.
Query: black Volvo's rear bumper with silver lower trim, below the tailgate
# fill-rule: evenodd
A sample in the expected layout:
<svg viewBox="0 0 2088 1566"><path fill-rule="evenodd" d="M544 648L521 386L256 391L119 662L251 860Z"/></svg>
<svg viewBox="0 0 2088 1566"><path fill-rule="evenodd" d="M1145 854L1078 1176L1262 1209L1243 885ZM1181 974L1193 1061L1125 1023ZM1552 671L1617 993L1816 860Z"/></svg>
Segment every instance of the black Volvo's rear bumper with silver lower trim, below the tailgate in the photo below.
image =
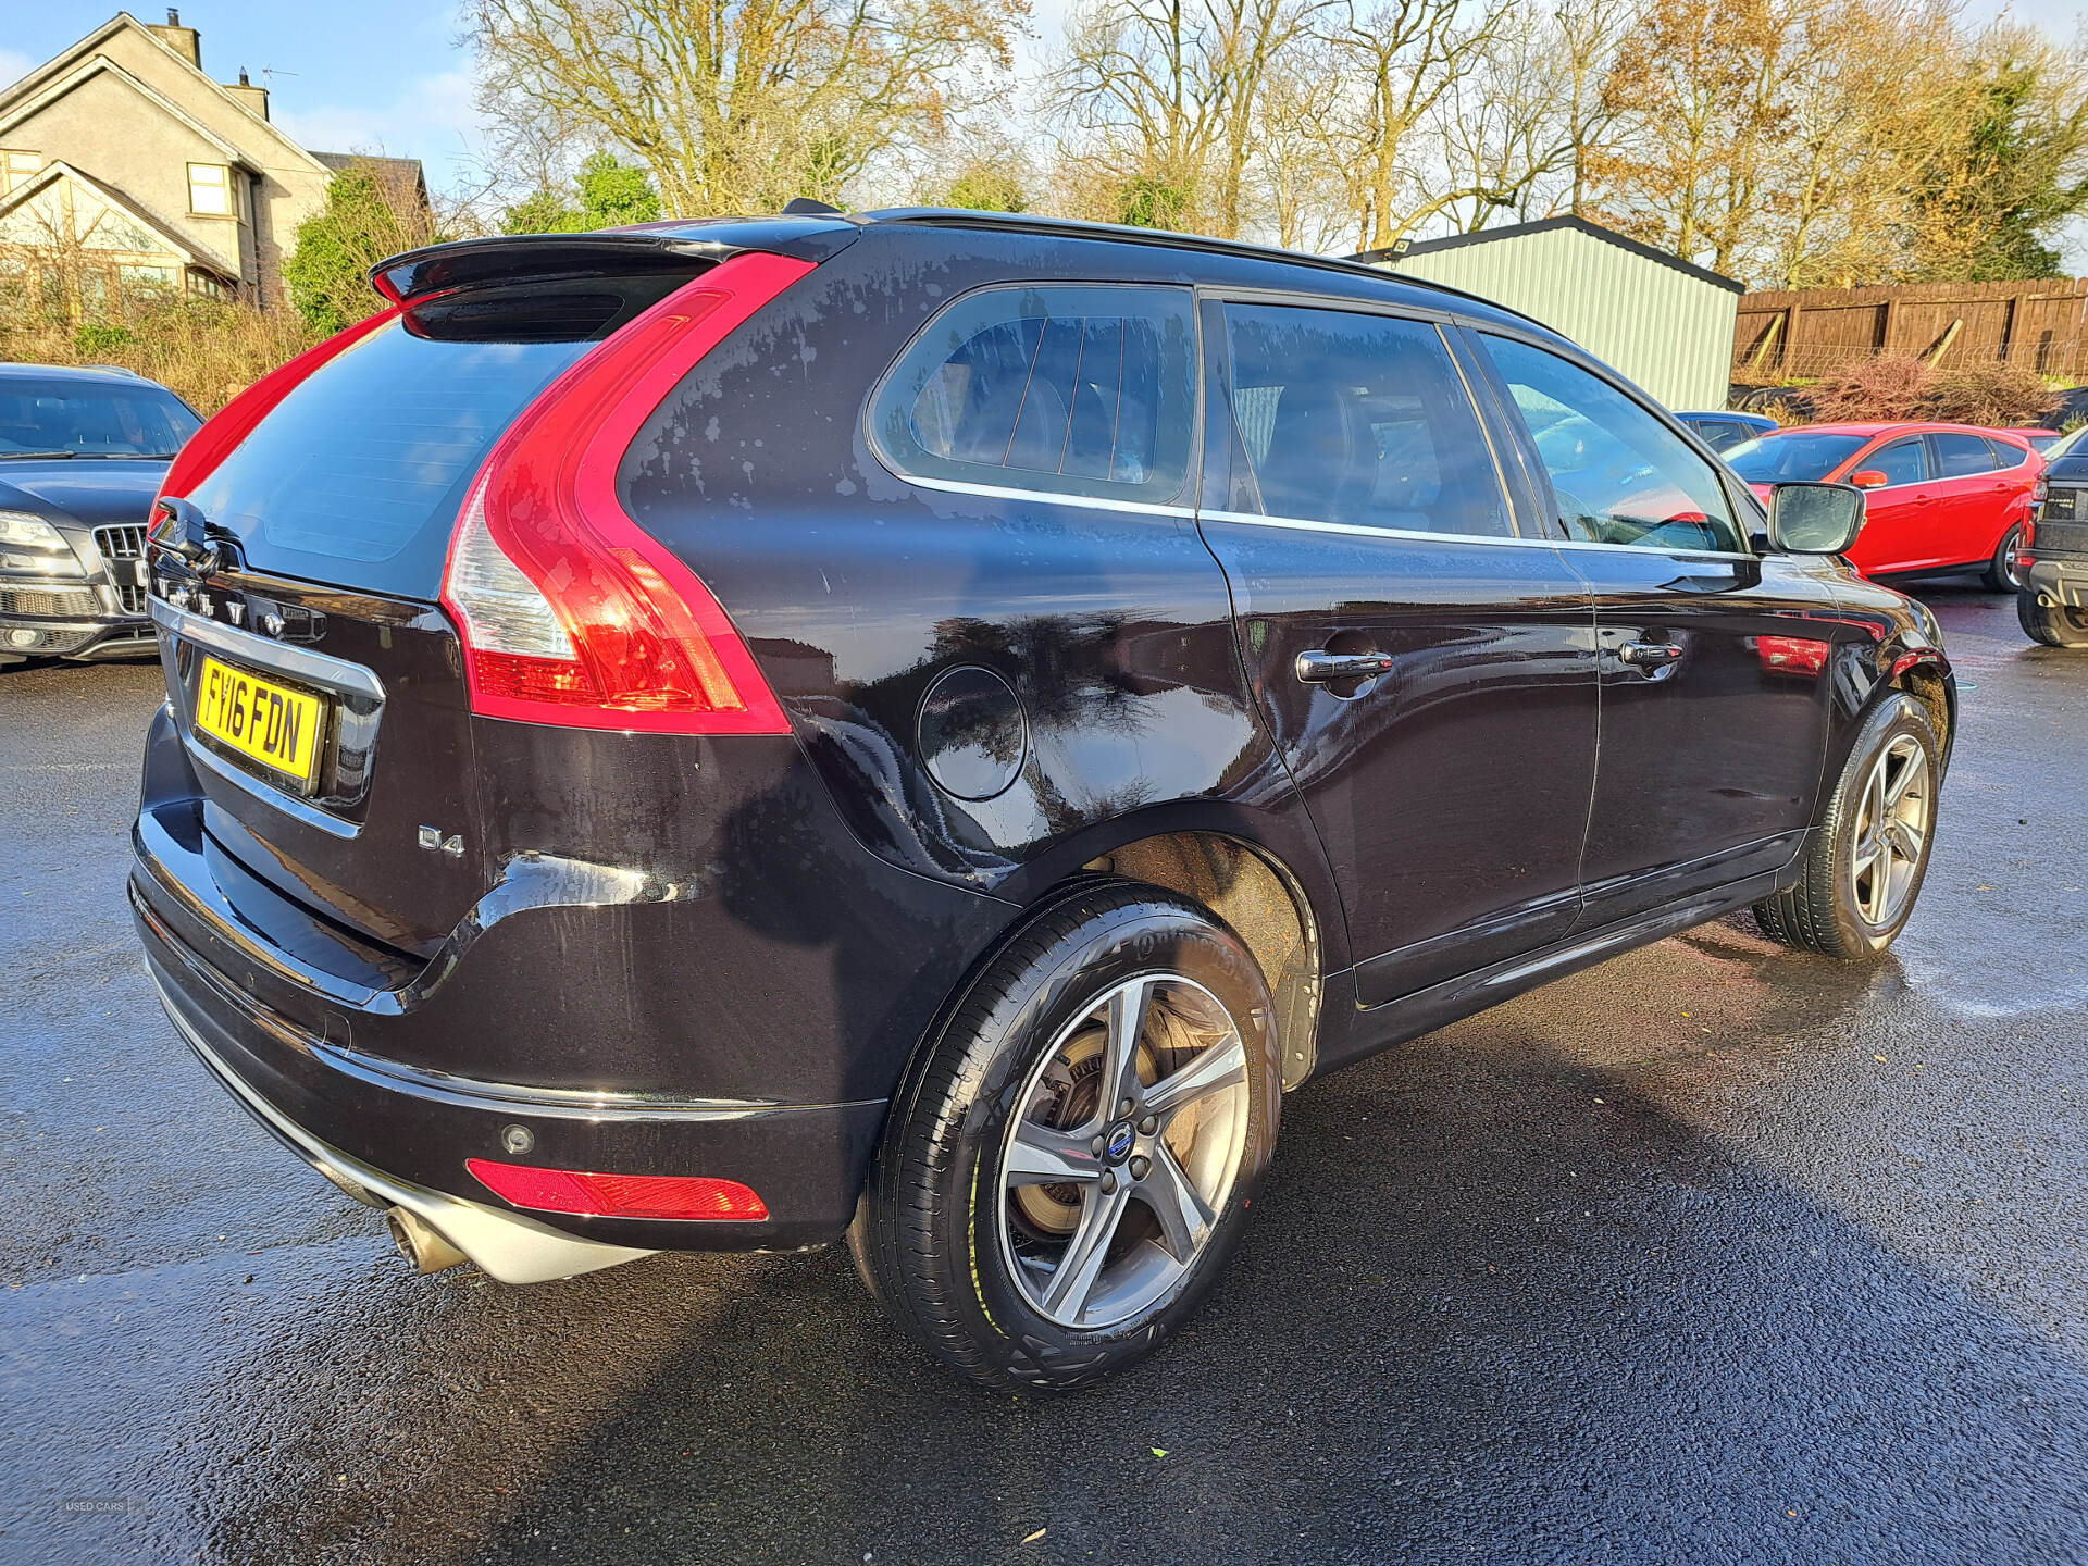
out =
<svg viewBox="0 0 2088 1566"><path fill-rule="evenodd" d="M455 1077L326 1038L257 998L255 931L213 915L198 854L136 833L129 902L161 1002L190 1048L307 1163L428 1219L497 1278L526 1282L649 1251L791 1251L848 1228L883 1100L687 1102ZM155 852L163 850L163 852ZM184 883L182 877L188 877ZM280 975L269 975L269 983ZM397 992L367 996L374 1009ZM505 1142L528 1132L518 1157ZM704 1173L760 1192L762 1224L603 1219L509 1207L466 1159L614 1173ZM520 1228L518 1228L520 1226ZM608 1255L603 1255L608 1251Z"/></svg>

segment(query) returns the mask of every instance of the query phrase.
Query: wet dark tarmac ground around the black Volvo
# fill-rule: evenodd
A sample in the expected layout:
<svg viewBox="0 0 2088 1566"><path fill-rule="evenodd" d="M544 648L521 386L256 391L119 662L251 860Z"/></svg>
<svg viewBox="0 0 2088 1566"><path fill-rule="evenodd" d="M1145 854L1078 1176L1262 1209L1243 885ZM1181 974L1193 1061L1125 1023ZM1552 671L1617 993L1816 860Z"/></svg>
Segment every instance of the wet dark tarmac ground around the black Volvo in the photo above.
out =
<svg viewBox="0 0 2088 1566"><path fill-rule="evenodd" d="M148 996L157 668L0 672L0 1564L2088 1560L2088 658L1929 599L1892 954L1741 917L1305 1088L1203 1318L1057 1401L839 1251L407 1274Z"/></svg>

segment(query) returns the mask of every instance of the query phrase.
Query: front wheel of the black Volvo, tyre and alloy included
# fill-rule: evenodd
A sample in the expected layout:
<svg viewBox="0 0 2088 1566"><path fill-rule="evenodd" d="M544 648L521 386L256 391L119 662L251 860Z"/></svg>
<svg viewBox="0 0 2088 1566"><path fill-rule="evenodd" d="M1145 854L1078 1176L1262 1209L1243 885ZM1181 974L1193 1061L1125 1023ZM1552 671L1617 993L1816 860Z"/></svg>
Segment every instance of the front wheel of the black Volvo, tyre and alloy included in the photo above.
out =
<svg viewBox="0 0 2088 1566"><path fill-rule="evenodd" d="M1762 933L1827 956L1873 956L1921 896L1936 837L1940 745L1927 708L1896 693L1865 722L1789 892L1754 904Z"/></svg>

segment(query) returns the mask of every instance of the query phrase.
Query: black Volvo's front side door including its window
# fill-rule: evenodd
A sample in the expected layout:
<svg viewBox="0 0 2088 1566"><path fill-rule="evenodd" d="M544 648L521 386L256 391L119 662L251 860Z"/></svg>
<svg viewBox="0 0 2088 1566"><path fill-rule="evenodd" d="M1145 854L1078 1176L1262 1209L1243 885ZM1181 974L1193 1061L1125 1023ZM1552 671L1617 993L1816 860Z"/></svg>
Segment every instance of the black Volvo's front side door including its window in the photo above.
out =
<svg viewBox="0 0 2088 1566"><path fill-rule="evenodd" d="M1748 549L1735 491L1593 365L1478 334L1551 491L1601 641L1601 762L1581 927L1798 852L1827 743L1825 572Z"/></svg>

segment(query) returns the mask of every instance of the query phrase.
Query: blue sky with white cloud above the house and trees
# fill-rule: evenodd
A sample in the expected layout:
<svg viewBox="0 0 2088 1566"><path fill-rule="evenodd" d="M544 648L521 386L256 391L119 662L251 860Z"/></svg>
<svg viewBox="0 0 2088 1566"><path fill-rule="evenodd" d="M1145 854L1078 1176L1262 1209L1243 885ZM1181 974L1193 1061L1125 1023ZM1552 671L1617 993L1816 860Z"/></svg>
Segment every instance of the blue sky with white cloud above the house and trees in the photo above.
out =
<svg viewBox="0 0 2088 1566"><path fill-rule="evenodd" d="M1057 40L1069 0L1034 0L1036 48ZM0 84L84 38L113 13L106 0L6 0ZM2011 10L2057 38L2082 25L2082 0L1969 0L1967 17ZM161 21L163 6L134 8ZM219 81L240 67L269 88L274 117L322 152L390 152L428 165L438 190L472 184L476 115L470 54L451 4L428 0L188 0L203 31L203 67ZM2088 223L2067 236L2067 265L2088 271Z"/></svg>

